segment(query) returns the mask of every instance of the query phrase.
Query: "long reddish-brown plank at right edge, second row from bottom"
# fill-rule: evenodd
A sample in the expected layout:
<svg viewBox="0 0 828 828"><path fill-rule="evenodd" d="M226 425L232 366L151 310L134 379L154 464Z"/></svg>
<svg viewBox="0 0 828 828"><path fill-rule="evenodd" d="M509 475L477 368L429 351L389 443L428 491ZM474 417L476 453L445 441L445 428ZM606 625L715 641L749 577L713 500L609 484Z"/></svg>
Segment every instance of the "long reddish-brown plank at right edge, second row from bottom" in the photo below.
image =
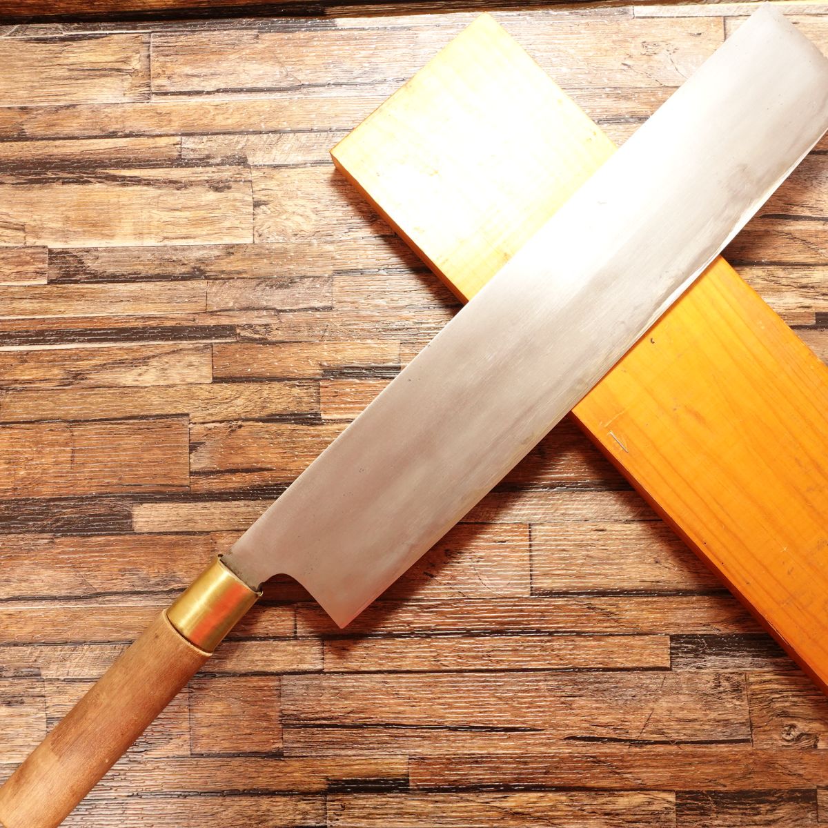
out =
<svg viewBox="0 0 828 828"><path fill-rule="evenodd" d="M801 790L822 783L828 752L744 745L550 747L538 755L412 757L414 790L598 787L648 791Z"/></svg>

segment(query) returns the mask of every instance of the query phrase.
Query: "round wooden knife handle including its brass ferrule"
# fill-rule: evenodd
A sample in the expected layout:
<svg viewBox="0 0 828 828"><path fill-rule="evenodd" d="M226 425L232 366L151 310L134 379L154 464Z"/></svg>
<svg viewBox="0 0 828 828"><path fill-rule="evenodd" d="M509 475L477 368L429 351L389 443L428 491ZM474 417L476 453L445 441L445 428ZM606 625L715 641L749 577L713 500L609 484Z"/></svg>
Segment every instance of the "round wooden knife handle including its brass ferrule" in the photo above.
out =
<svg viewBox="0 0 828 828"><path fill-rule="evenodd" d="M258 595L214 561L12 773L0 788L0 823L5 828L59 826Z"/></svg>

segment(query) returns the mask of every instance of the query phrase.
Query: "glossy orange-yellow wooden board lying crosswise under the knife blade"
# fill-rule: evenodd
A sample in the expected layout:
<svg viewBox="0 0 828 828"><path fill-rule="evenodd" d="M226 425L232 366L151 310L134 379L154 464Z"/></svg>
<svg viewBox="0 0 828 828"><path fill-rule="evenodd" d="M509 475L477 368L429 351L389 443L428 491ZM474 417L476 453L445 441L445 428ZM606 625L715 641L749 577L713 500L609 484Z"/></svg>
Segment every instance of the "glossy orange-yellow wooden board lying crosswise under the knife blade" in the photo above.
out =
<svg viewBox="0 0 828 828"><path fill-rule="evenodd" d="M484 15L332 155L468 300L611 152ZM573 412L824 690L826 412L828 369L722 258Z"/></svg>

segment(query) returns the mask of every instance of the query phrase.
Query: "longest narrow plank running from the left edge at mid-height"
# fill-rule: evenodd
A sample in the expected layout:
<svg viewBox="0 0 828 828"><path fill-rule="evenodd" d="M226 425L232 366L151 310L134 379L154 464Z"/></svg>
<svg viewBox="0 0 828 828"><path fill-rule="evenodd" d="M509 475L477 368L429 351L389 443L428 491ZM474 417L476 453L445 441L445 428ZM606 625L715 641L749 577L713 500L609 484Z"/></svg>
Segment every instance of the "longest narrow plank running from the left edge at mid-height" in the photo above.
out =
<svg viewBox="0 0 828 828"><path fill-rule="evenodd" d="M104 352L105 356L106 350L100 349L98 353ZM176 351L181 353L179 349ZM73 370L70 366L66 368ZM171 360L166 370L172 373L186 371L187 367L185 363ZM194 372L194 376L199 374ZM66 378L66 382L71 382L66 388L7 389L0 396L0 421L118 420L129 416L184 415L190 417L190 422L200 423L277 417L309 419L319 414L319 389L310 382L120 385L115 388L83 388L74 376ZM123 382L123 373L118 382ZM178 380L173 376L165 382Z"/></svg>

